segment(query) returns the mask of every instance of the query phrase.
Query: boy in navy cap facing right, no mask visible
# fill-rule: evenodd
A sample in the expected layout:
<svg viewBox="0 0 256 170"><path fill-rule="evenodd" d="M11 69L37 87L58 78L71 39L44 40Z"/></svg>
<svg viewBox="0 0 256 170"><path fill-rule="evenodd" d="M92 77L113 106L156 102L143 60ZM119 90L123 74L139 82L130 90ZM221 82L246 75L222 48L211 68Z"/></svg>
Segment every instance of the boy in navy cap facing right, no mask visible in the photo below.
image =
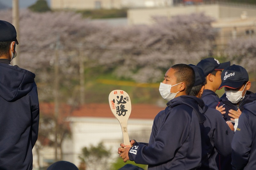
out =
<svg viewBox="0 0 256 170"><path fill-rule="evenodd" d="M210 57L201 60L196 66L200 67L204 71L206 79L204 93L201 99L204 100L204 103L208 107L211 107L220 100L219 96L215 92L221 84L221 71L230 66L230 62L220 63L217 59Z"/></svg>

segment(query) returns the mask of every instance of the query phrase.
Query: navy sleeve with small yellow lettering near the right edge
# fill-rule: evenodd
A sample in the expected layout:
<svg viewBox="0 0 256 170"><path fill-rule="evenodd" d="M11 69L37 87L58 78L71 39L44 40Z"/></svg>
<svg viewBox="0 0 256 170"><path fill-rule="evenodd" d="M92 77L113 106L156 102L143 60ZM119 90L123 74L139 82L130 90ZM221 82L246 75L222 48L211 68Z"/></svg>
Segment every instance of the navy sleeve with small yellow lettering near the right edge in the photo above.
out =
<svg viewBox="0 0 256 170"><path fill-rule="evenodd" d="M244 169L248 163L252 144L252 129L249 116L242 113L239 117L233 141L232 141L232 166L233 169Z"/></svg>

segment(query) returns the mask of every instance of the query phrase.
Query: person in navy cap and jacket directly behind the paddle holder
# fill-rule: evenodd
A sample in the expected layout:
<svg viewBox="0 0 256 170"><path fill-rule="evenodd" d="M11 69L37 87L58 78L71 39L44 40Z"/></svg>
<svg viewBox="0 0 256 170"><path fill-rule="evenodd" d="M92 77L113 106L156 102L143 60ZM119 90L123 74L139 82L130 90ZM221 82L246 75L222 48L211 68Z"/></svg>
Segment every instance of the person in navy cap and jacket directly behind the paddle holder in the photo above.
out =
<svg viewBox="0 0 256 170"><path fill-rule="evenodd" d="M189 95L200 98L204 91L204 72L201 68L191 65L195 71L196 80ZM231 142L234 132L229 128L221 113L204 105L204 101L198 99L198 110L206 117L206 121L200 124L202 143L202 165L197 168L202 170L218 170L215 158L217 153L223 156L231 155ZM232 123L230 123L232 125Z"/></svg>

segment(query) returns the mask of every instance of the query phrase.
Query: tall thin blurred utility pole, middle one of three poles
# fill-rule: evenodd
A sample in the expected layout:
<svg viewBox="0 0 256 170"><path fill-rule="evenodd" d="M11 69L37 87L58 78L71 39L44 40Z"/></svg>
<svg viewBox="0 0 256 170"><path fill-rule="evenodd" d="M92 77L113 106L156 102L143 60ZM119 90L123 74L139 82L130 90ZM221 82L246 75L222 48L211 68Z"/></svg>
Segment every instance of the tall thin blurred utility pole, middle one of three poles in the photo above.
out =
<svg viewBox="0 0 256 170"><path fill-rule="evenodd" d="M55 161L58 161L58 117L59 117L59 49L60 49L60 35L57 37L55 56L54 56L54 120L55 120Z"/></svg>

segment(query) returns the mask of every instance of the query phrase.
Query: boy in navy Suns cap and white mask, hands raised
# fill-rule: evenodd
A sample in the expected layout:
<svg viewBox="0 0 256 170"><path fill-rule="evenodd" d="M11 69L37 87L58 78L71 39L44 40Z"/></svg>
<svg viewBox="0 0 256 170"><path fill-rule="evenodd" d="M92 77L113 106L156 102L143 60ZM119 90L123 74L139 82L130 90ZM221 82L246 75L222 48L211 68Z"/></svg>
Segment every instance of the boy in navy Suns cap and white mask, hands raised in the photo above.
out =
<svg viewBox="0 0 256 170"><path fill-rule="evenodd" d="M244 67L231 65L221 73L222 83L220 88L224 87L225 93L220 97L220 102L213 105L212 108L222 107L222 114L225 121L235 120L235 131L238 118L244 110L244 105L256 100L256 95L248 91L251 87L249 75ZM231 156L223 157L217 155L216 162L219 169L232 170Z"/></svg>

